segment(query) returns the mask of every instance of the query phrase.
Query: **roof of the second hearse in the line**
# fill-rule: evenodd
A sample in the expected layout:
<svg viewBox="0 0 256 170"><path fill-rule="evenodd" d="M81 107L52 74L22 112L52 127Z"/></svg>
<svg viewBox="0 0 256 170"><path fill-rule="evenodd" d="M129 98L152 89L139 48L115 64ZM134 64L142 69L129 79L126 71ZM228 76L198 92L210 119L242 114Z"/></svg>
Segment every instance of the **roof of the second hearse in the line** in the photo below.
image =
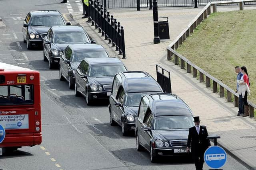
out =
<svg viewBox="0 0 256 170"><path fill-rule="evenodd" d="M162 92L158 82L150 76L147 72L143 71L127 71L122 72L125 76L125 91L127 93L134 92Z"/></svg>

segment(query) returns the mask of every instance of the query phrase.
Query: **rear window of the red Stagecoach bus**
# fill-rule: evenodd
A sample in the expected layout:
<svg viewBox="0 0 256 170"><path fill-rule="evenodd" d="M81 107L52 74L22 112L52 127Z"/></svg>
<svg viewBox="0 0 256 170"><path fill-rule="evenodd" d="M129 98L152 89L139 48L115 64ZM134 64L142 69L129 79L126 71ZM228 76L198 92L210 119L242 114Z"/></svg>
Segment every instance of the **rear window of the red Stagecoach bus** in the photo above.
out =
<svg viewBox="0 0 256 170"><path fill-rule="evenodd" d="M0 106L34 104L33 85L0 86Z"/></svg>

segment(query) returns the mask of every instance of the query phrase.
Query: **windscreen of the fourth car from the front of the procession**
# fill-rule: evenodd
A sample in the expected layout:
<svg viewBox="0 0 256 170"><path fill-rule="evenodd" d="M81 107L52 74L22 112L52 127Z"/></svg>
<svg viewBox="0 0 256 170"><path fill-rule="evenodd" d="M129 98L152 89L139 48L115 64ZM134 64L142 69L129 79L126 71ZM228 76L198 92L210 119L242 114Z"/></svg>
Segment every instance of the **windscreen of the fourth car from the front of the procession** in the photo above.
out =
<svg viewBox="0 0 256 170"><path fill-rule="evenodd" d="M95 57L108 57L108 54L104 50L75 51L72 62L81 62L83 59Z"/></svg>

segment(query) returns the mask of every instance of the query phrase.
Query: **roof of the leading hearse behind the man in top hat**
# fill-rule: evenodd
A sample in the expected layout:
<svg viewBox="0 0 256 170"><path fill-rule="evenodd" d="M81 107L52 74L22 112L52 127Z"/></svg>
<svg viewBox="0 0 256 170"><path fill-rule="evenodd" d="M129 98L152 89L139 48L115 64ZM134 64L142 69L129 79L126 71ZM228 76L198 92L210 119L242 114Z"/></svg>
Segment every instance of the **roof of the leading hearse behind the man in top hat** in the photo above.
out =
<svg viewBox="0 0 256 170"><path fill-rule="evenodd" d="M186 103L175 94L150 94L155 116L192 115Z"/></svg>

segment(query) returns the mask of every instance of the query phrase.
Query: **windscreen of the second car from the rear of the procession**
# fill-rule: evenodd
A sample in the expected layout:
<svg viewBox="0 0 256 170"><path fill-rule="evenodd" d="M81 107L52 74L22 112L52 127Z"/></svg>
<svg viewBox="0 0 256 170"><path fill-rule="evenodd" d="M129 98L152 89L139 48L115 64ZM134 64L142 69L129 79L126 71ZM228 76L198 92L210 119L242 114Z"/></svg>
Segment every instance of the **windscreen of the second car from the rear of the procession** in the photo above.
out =
<svg viewBox="0 0 256 170"><path fill-rule="evenodd" d="M86 43L87 38L84 31L61 31L54 33L54 43Z"/></svg>

